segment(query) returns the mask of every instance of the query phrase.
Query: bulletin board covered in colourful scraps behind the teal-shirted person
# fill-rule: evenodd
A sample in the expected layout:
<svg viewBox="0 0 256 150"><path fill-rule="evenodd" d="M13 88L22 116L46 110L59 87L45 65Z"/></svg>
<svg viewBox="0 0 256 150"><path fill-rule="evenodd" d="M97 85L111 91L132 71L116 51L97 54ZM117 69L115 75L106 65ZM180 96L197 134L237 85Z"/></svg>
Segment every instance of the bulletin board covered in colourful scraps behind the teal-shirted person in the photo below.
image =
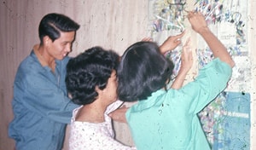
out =
<svg viewBox="0 0 256 150"><path fill-rule="evenodd" d="M228 87L199 113L212 149L250 149L251 63L247 45L247 0L148 0L148 32L157 43L182 32L187 10L200 11L236 62ZM207 43L196 35L196 61L192 76L212 61ZM180 67L182 45L166 55Z"/></svg>

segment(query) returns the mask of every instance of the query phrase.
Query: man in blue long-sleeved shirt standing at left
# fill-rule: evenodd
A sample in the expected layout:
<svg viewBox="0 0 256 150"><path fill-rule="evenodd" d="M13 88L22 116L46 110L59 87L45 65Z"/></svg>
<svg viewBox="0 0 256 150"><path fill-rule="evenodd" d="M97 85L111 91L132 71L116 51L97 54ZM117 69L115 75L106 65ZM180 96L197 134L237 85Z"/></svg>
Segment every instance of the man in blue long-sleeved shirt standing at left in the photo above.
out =
<svg viewBox="0 0 256 150"><path fill-rule="evenodd" d="M72 111L67 98L67 54L79 25L63 14L46 14L39 25L40 44L20 63L15 76L15 114L9 136L16 149L60 150Z"/></svg>

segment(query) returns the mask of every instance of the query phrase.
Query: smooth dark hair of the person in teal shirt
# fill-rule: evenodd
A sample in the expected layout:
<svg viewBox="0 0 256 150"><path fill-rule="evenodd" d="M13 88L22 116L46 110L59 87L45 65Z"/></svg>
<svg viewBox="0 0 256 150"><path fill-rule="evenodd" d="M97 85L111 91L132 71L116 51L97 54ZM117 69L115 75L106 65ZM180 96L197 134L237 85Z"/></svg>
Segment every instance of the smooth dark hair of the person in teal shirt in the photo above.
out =
<svg viewBox="0 0 256 150"><path fill-rule="evenodd" d="M154 91L164 88L170 80L174 65L153 42L138 42L125 50L121 58L118 94L122 101L146 99Z"/></svg>

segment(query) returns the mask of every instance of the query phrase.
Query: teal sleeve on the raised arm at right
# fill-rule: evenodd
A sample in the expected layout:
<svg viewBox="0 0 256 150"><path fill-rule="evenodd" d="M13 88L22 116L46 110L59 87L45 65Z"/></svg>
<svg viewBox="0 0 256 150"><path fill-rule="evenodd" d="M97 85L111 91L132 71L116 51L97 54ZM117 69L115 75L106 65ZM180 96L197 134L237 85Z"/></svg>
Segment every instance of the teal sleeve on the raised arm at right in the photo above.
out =
<svg viewBox="0 0 256 150"><path fill-rule="evenodd" d="M203 67L195 81L185 85L180 91L189 100L189 112L199 113L221 91L230 80L232 68L218 58ZM188 103L188 101L185 101Z"/></svg>

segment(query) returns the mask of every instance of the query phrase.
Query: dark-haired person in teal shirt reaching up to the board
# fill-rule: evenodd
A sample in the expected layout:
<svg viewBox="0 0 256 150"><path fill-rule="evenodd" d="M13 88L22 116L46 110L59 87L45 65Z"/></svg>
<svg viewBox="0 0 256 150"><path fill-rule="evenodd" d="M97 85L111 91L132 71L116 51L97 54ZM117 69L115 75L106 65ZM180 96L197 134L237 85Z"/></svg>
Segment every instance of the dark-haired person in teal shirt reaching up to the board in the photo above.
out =
<svg viewBox="0 0 256 150"><path fill-rule="evenodd" d="M215 59L181 89L166 89L173 64L156 43L134 43L121 58L119 99L138 101L125 116L139 150L210 149L197 113L225 89L235 63L201 13L189 12L188 19ZM189 49L186 43L183 50Z"/></svg>

